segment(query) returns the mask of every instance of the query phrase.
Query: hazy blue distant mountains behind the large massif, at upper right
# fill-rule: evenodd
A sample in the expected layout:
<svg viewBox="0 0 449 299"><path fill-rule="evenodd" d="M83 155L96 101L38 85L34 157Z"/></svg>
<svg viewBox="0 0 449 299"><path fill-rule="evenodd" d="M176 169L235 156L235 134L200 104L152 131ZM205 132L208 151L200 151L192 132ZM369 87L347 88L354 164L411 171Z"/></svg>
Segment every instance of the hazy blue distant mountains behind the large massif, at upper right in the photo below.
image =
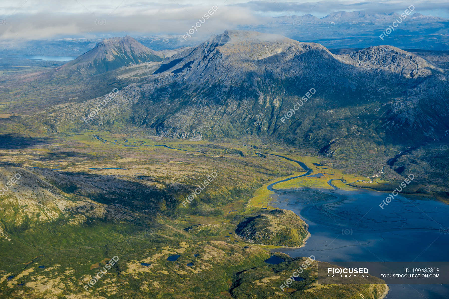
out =
<svg viewBox="0 0 449 299"><path fill-rule="evenodd" d="M403 21L384 37L379 36L396 20ZM271 22L238 26L238 29L281 34L301 42L321 43L327 48L366 48L391 45L398 48L449 50L449 20L419 13L401 18L398 13L367 11L335 12L321 19L304 16L273 17Z"/></svg>

